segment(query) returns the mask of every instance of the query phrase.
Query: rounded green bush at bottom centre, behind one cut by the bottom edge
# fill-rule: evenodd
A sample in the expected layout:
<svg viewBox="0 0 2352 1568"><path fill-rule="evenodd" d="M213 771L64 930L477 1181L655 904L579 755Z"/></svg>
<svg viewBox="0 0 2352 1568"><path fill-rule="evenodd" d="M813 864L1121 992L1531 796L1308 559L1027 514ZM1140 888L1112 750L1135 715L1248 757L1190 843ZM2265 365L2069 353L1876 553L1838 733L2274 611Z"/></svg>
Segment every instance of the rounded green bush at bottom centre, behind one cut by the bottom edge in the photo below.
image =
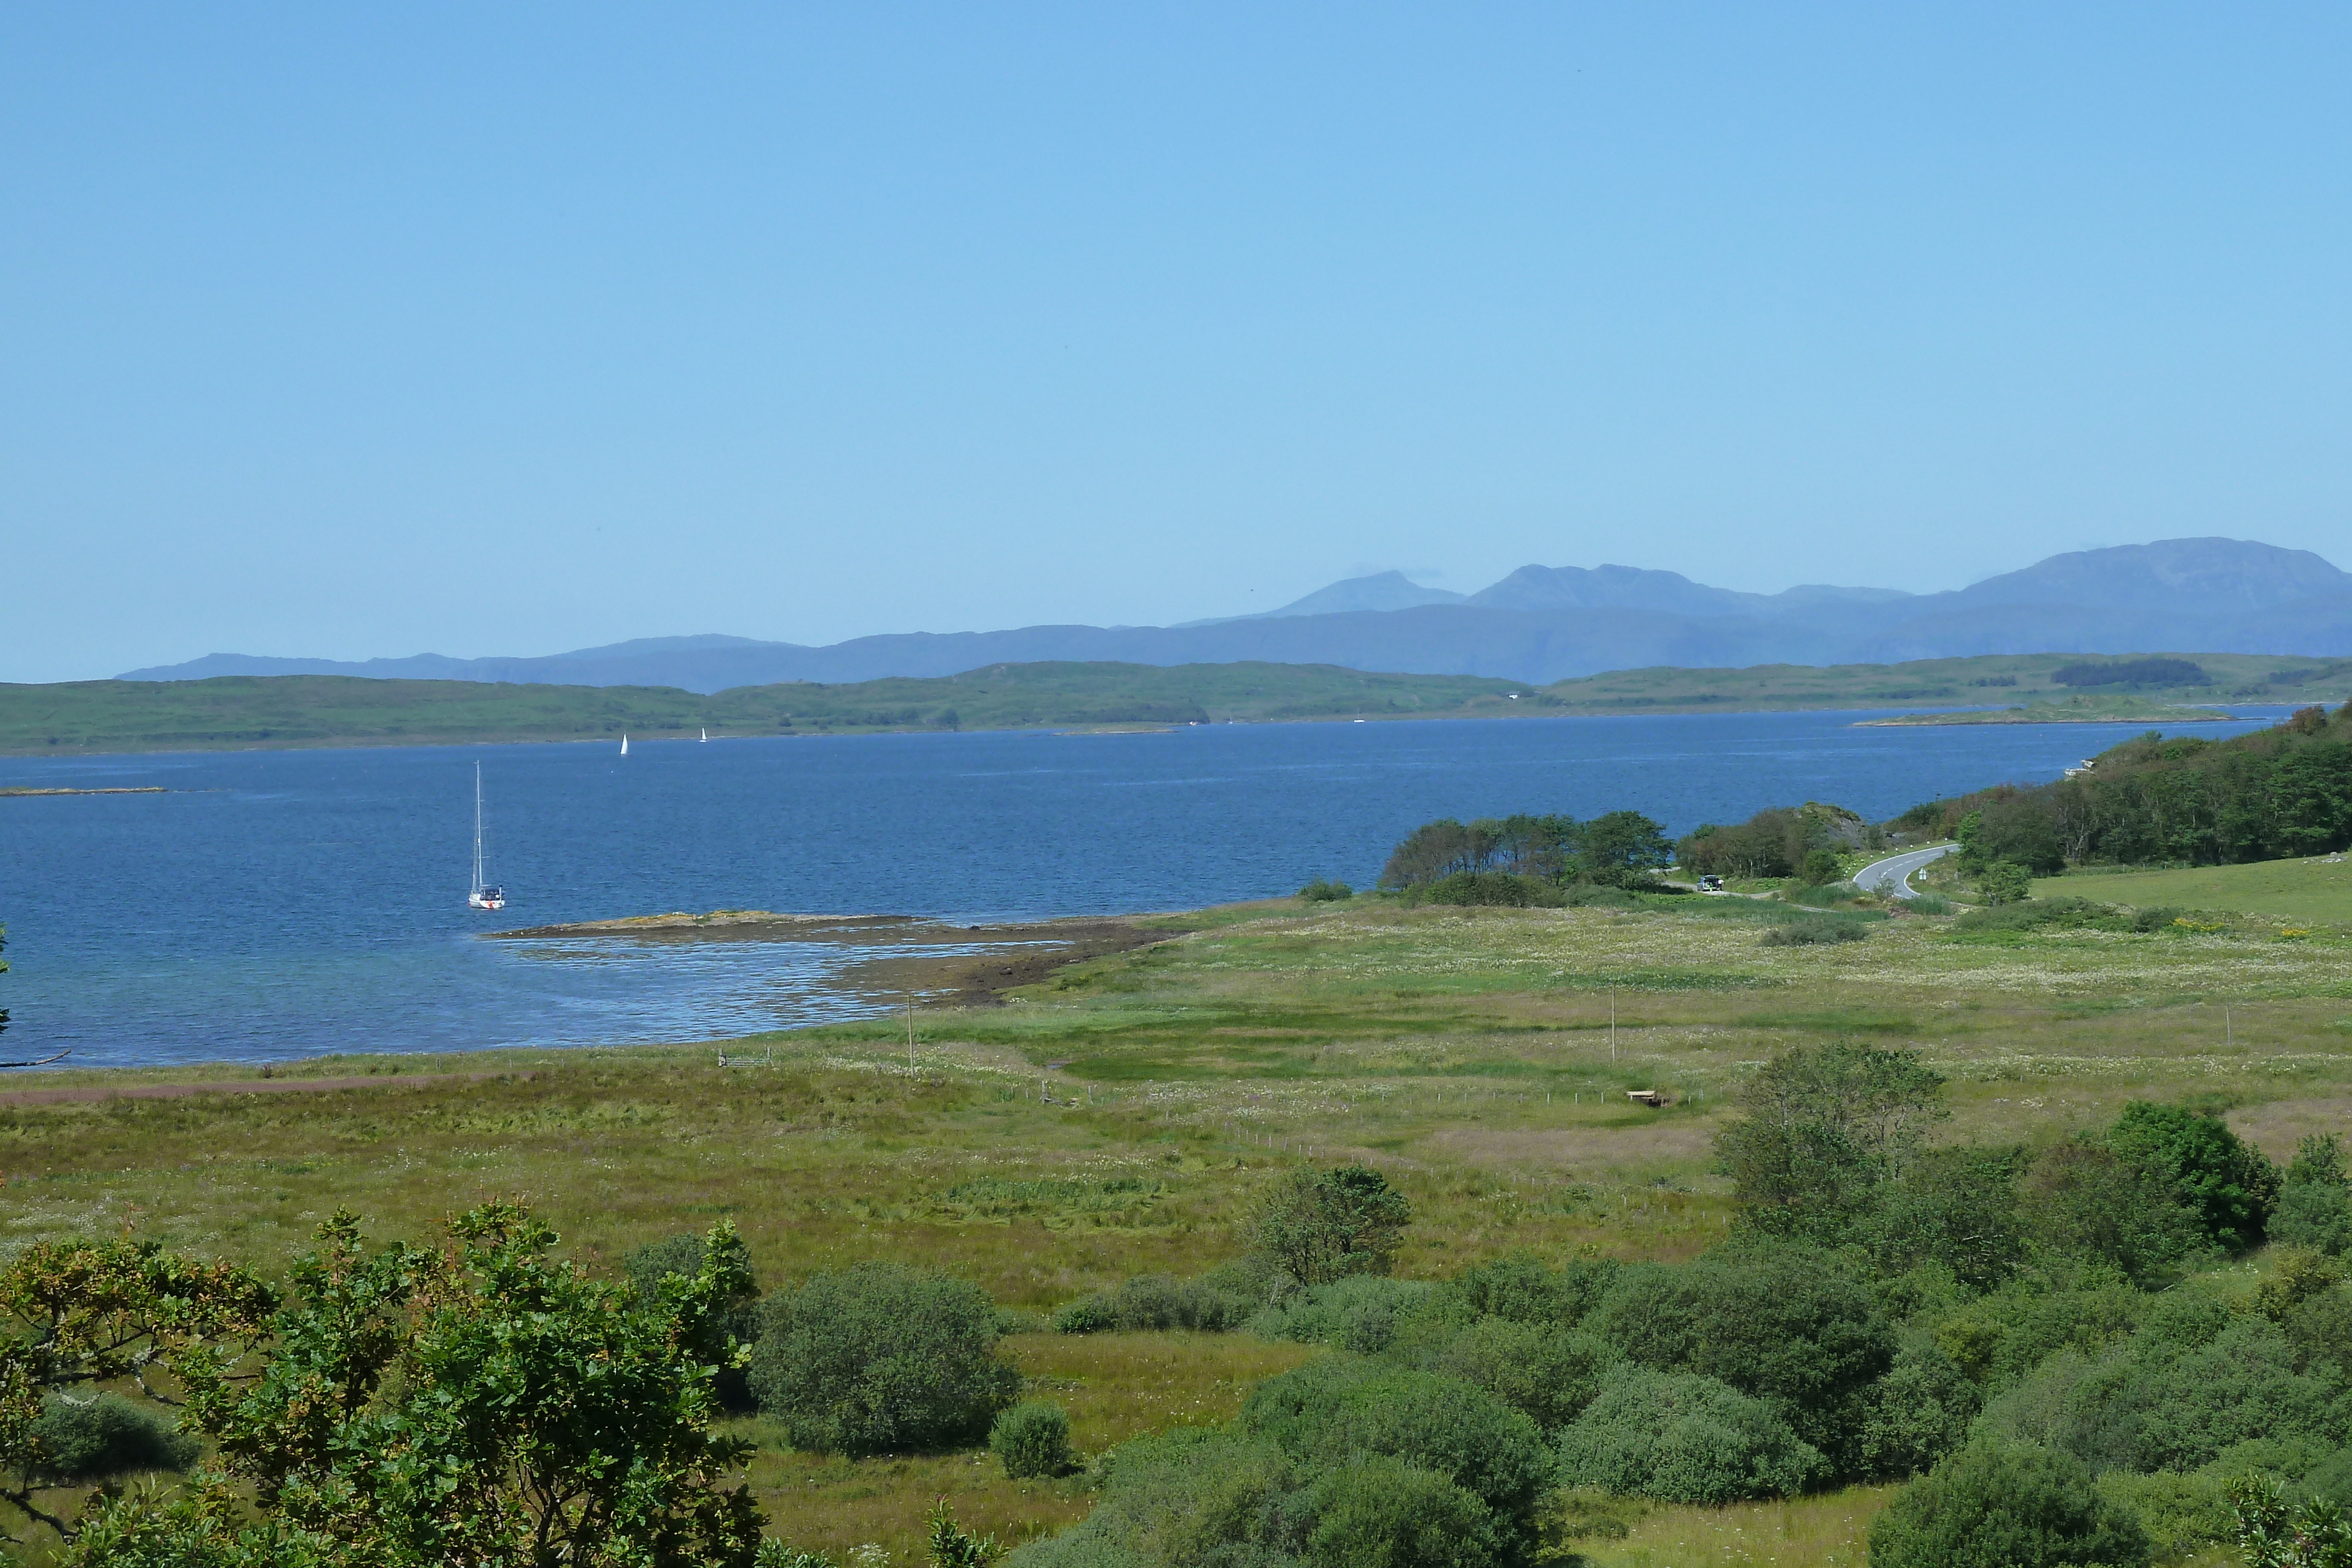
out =
<svg viewBox="0 0 2352 1568"><path fill-rule="evenodd" d="M1534 1519L1552 1469L1536 1422L1494 1394L1352 1356L1268 1378L1242 1403L1242 1427L1317 1469L1385 1453L1446 1476L1519 1523Z"/></svg>

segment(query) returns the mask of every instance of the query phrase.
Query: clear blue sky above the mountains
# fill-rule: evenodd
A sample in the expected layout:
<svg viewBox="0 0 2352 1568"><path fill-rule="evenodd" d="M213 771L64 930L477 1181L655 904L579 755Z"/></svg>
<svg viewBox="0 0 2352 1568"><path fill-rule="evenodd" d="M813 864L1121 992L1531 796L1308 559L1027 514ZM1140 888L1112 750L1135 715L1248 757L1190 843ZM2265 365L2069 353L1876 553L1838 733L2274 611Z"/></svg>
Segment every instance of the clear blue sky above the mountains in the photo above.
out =
<svg viewBox="0 0 2352 1568"><path fill-rule="evenodd" d="M2343 5L0 9L0 679L2352 567Z"/></svg>

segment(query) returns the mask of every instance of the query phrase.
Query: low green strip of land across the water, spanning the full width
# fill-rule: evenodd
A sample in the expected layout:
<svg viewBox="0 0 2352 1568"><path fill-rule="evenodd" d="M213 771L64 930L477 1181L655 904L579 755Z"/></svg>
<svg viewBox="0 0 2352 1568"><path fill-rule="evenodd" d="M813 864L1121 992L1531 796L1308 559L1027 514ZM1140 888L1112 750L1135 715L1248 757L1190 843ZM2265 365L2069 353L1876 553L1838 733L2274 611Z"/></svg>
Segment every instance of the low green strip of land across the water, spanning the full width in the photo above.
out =
<svg viewBox="0 0 2352 1568"><path fill-rule="evenodd" d="M1987 703L2037 710L2089 698L2112 719L2213 715L2190 703L2343 703L2352 658L2180 654L2084 658L1992 654L1898 665L1616 670L1534 686L1475 675L1381 675L1338 665L988 665L936 679L786 682L694 693L670 686L536 686L365 679L350 675L200 682L0 684L0 757L256 750L313 745L466 745L691 741L731 736L941 733L1049 729L1115 733L1192 724L1628 717L1806 712ZM2150 708L2138 708L2150 705ZM2129 712L2126 712L2129 710ZM2178 717L2171 717L2178 715ZM1933 717L1903 722L2023 722Z"/></svg>

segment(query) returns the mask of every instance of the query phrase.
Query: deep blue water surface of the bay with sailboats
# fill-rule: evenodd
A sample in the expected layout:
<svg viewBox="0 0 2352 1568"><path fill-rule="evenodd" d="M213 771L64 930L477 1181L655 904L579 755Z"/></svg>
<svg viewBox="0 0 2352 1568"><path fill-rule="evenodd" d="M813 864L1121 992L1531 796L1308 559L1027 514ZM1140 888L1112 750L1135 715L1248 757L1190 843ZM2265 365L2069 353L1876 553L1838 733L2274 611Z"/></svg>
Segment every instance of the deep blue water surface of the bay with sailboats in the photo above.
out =
<svg viewBox="0 0 2352 1568"><path fill-rule="evenodd" d="M2284 710L2244 708L2239 733ZM1646 811L1670 832L1830 799L1884 818L2039 783L2136 726L1853 729L1837 715L1221 724L0 759L14 1023L0 1056L275 1060L715 1039L873 1004L818 943L485 943L659 910L967 922L1371 882L1432 816ZM466 910L473 764L501 914Z"/></svg>

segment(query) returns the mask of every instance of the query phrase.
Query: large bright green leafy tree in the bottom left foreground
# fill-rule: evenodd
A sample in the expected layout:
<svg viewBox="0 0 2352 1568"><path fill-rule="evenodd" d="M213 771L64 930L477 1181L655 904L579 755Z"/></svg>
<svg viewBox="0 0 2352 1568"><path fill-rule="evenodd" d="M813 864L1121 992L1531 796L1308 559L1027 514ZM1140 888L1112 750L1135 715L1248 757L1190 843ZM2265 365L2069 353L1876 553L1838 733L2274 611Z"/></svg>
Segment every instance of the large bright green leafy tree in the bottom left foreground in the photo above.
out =
<svg viewBox="0 0 2352 1568"><path fill-rule="evenodd" d="M367 1563L750 1568L760 1509L722 1486L748 1448L710 1432L694 1352L743 1284L731 1229L654 1302L550 1258L555 1232L513 1204L449 1237L367 1255L336 1215L259 1375L181 1361L223 1469Z"/></svg>

